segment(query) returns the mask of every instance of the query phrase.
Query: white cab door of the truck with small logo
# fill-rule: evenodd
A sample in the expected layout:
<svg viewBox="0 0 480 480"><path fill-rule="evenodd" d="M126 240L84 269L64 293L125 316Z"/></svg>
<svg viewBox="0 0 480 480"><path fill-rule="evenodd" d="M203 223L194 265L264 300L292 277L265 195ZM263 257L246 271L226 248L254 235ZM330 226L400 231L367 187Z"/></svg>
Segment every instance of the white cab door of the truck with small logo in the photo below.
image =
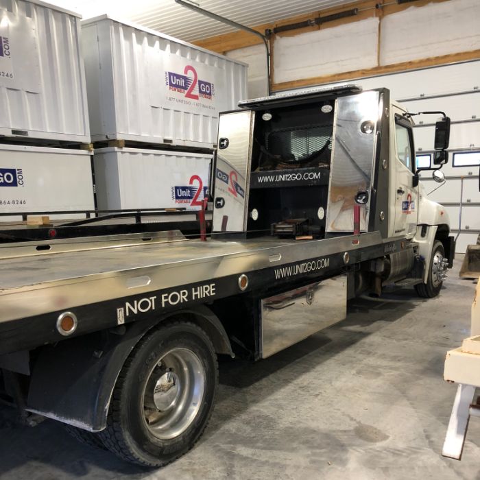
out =
<svg viewBox="0 0 480 480"><path fill-rule="evenodd" d="M405 112L394 107L394 157L395 174L391 182L390 195L395 205L395 235L408 238L415 235L418 217L418 187L413 187L415 171L415 150L413 149L413 132ZM393 173L393 172L392 172Z"/></svg>

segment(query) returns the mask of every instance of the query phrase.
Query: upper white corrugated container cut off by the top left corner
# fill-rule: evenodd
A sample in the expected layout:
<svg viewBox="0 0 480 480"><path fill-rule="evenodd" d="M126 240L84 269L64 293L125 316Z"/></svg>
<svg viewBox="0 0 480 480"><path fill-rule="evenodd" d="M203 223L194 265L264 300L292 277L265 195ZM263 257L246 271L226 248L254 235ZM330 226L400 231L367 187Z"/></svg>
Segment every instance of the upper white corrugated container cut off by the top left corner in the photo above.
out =
<svg viewBox="0 0 480 480"><path fill-rule="evenodd" d="M89 142L80 18L0 0L0 135Z"/></svg>

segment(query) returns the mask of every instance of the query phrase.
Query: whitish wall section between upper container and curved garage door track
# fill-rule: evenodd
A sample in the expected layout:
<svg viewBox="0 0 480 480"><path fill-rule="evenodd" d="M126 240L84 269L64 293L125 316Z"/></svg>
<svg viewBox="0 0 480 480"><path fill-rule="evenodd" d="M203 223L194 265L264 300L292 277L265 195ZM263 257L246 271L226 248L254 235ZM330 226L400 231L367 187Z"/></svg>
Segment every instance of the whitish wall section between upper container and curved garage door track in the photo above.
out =
<svg viewBox="0 0 480 480"><path fill-rule="evenodd" d="M265 45L252 45L252 47L232 50L226 53L226 56L248 64L248 98L265 97L265 95L268 95L267 53Z"/></svg>

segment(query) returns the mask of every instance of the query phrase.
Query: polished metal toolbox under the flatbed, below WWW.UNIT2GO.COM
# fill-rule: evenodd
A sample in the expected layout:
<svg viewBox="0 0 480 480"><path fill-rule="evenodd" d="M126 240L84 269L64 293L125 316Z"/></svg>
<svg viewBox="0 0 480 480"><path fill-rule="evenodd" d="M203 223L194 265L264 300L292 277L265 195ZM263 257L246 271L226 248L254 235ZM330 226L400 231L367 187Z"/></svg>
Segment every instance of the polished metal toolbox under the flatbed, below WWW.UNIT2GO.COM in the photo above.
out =
<svg viewBox="0 0 480 480"><path fill-rule="evenodd" d="M263 298L260 357L265 359L323 328L345 320L346 301L346 275Z"/></svg>

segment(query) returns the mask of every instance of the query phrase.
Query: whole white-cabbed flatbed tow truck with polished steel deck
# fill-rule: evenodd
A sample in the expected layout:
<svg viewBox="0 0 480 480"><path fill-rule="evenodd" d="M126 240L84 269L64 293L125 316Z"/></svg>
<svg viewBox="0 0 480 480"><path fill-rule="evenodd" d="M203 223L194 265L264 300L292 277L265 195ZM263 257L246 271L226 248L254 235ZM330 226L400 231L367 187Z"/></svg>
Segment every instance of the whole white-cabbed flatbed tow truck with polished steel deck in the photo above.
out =
<svg viewBox="0 0 480 480"><path fill-rule="evenodd" d="M387 89L239 106L220 115L213 213L195 237L182 222L0 230L0 380L21 411L163 466L206 427L217 354L274 355L384 285L439 293L455 252L448 215L419 186L412 114Z"/></svg>

